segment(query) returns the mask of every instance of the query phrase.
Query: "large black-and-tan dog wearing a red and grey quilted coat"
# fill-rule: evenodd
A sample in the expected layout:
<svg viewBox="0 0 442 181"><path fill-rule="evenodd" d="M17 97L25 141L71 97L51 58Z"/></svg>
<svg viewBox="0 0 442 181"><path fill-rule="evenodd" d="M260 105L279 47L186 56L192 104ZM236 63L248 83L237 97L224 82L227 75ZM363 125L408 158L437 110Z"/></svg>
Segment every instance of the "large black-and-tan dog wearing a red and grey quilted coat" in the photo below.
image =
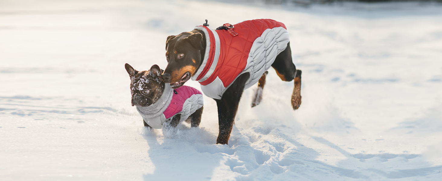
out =
<svg viewBox="0 0 442 181"><path fill-rule="evenodd" d="M216 30L197 26L191 32L169 36L163 80L174 89L197 80L203 93L218 107L217 143L227 144L244 89L258 84L252 106L260 102L266 71L273 67L283 81L294 79L293 109L301 105L301 70L292 62L290 40L283 23L255 19Z"/></svg>

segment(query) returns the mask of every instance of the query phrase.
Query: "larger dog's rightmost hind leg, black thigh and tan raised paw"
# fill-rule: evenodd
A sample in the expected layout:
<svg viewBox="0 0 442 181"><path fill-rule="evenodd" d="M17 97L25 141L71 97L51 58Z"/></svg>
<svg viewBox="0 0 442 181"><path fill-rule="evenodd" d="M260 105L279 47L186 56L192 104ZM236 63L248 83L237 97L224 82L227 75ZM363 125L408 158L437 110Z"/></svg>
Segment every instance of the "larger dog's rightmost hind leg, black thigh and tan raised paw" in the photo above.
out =
<svg viewBox="0 0 442 181"><path fill-rule="evenodd" d="M292 61L292 51L290 49L290 42L287 43L287 48L276 56L272 64L276 74L283 81L290 82L294 80L294 87L292 93L292 108L298 109L301 105L301 70L297 70Z"/></svg>

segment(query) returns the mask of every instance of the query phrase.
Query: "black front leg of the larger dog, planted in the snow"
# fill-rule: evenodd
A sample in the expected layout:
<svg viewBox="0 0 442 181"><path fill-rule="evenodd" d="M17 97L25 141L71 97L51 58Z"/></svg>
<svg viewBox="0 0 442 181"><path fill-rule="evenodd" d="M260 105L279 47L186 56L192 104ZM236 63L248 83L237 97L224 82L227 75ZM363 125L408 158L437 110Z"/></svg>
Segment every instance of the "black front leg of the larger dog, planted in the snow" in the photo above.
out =
<svg viewBox="0 0 442 181"><path fill-rule="evenodd" d="M217 102L218 124L220 128L217 144L227 144L229 142L238 104L249 76L249 73L238 76L235 82L224 92L221 99L214 99Z"/></svg>

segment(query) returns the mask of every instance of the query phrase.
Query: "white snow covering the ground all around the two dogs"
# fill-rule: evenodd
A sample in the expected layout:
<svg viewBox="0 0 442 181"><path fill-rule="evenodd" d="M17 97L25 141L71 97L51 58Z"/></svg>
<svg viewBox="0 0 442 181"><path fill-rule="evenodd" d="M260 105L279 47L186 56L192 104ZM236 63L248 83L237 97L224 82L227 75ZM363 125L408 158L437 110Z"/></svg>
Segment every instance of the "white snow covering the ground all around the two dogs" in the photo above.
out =
<svg viewBox="0 0 442 181"><path fill-rule="evenodd" d="M419 3L0 2L1 180L437 181L442 11ZM381 8L379 8L381 7ZM226 13L228 9L231 13ZM168 35L209 20L286 24L303 71L244 91L229 145L216 103L199 128L143 128L125 63L165 68ZM189 81L187 86L198 83Z"/></svg>

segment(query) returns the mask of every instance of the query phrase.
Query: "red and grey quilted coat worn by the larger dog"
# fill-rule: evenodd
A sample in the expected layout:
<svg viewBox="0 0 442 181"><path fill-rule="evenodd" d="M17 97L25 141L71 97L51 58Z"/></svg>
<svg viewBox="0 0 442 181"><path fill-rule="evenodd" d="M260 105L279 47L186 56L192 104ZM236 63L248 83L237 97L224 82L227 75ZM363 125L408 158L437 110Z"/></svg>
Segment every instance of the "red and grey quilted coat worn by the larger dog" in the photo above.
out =
<svg viewBox="0 0 442 181"><path fill-rule="evenodd" d="M206 53L192 80L201 84L202 92L221 99L225 90L243 73L250 73L247 89L258 82L273 64L276 56L290 41L283 23L272 19L248 20L234 25L238 35L227 30L197 26L206 35Z"/></svg>

